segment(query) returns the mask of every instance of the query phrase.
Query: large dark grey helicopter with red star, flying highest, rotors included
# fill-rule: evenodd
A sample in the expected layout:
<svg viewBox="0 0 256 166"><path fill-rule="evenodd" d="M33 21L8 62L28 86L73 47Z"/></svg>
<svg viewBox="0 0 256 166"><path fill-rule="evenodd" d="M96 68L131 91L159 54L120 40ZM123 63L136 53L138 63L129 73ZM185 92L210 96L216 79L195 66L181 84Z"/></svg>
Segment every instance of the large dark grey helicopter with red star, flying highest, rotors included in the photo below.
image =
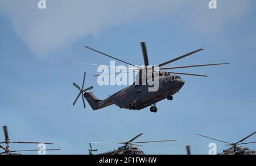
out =
<svg viewBox="0 0 256 166"><path fill-rule="evenodd" d="M109 96L108 98L101 100L101 99L98 99L96 96L94 96L92 92L89 91L93 89L93 86L90 86L89 88L84 89L85 76L86 76L86 73L84 73L84 78L82 81L81 88L75 82L73 83L73 86L75 86L79 90L79 94L76 97L75 101L73 102L73 105L75 106L77 99L79 99L79 97L82 96L82 102L84 104L84 108L86 108L86 105L85 105L85 99L86 99L93 110L99 110L104 107L108 107L110 105L117 105L121 109L129 109L129 110L142 110L148 106L151 106L150 111L152 113L156 113L158 111L158 108L156 107L156 103L159 101L162 101L163 99L168 99L172 101L172 99L174 98L173 97L174 94L179 92L179 90L185 84L185 81L178 75L208 77L206 75L201 75L201 74L177 73L177 72L169 72L167 70L229 64L229 63L218 63L218 64L188 65L188 66L181 66L181 67L163 68L163 66L167 64L174 63L177 60L183 59L197 52L203 51L204 49L201 48L152 67L150 66L148 61L146 44L144 42L141 43L141 47L142 47L142 53L144 58L144 67L138 67L138 65L127 63L126 61L117 59L116 57L97 51L94 48L85 46L85 48L88 48L91 51L100 53L101 55L107 56L110 59L121 61L122 63L125 63L127 65L134 67L133 69L138 72L136 77L137 79L133 85L130 85L127 88L122 89L117 93L114 93L112 96ZM69 61L69 60L67 60L67 62L88 64L88 63L81 63L81 62ZM97 65L97 64L88 64L88 65ZM112 66L109 66L109 67L111 68ZM119 74L119 73L110 73L110 74ZM98 77L98 76L100 75L94 75L94 77ZM152 85L148 84L148 81L154 82L155 79L158 80L158 83L159 83L158 89L151 92L148 89L152 88L151 87Z"/></svg>

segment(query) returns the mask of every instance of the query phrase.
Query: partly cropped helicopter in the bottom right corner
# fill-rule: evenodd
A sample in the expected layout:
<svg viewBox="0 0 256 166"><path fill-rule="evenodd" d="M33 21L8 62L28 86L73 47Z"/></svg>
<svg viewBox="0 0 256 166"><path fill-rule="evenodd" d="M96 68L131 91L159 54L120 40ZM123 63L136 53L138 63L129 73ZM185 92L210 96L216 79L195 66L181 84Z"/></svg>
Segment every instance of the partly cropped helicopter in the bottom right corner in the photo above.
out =
<svg viewBox="0 0 256 166"><path fill-rule="evenodd" d="M221 153L217 153L217 155L256 155L256 151L255 150L250 150L247 147L241 147L239 145L243 145L243 144L253 144L256 142L247 142L247 143L242 143L243 141L245 141L246 139L250 138L251 136L253 136L254 134L256 134L256 131L253 132L253 134L250 134L248 136L246 136L245 138L241 139L240 141L236 142L236 143L228 143L228 142L224 142L222 140L218 140L218 139L214 139L214 138L210 138L208 136L204 136L204 135L200 135L197 134L199 136L203 136L204 138L208 138L208 139L212 139L212 140L216 140L218 142L222 142L222 143L226 143L225 146L232 146L229 149L224 150Z"/></svg>

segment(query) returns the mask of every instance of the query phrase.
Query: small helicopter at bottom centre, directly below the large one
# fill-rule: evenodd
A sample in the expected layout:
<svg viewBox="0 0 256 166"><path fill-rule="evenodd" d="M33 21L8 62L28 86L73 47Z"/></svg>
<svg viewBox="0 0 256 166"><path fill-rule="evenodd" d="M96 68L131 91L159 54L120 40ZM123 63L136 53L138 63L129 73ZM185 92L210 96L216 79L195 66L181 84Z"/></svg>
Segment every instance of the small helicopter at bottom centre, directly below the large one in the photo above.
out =
<svg viewBox="0 0 256 166"><path fill-rule="evenodd" d="M89 136L93 136L96 138L100 138L98 136L86 134ZM155 140L155 141L146 141L146 142L134 142L135 139L139 138L143 134L139 134L135 136L133 139L126 141L126 142L118 142L117 140L111 140L111 139L105 139L105 138L100 138L100 139L105 139L111 142L92 142L92 143L98 143L98 144L123 144L122 147L119 147L117 150L105 152L105 153L100 153L97 155L144 155L145 153L142 150L139 150L138 147L142 147L141 144L143 143L157 143L157 142L176 142L177 140ZM113 143L114 142L114 143ZM94 155L93 152L97 152L98 150L93 150L92 148L92 143L89 143L90 149L89 155Z"/></svg>

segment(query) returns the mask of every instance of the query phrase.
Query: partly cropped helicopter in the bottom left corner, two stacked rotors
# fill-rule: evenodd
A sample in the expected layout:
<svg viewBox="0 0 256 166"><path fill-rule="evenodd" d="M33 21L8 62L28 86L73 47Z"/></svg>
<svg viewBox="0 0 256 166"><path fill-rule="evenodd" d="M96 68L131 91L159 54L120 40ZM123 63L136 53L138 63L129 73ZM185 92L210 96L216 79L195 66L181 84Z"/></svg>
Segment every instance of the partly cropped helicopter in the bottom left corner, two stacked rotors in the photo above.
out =
<svg viewBox="0 0 256 166"><path fill-rule="evenodd" d="M10 143L18 143L18 144L53 144L53 143L43 143L43 142L20 142L20 141L11 141L9 139L8 127L3 126L3 134L5 135L5 142L0 142L0 148L3 152L0 152L0 155L21 155L19 152L32 152L39 150L22 150L22 151L12 151L10 150ZM1 144L5 144L2 146ZM48 149L43 151L59 151L60 149Z"/></svg>

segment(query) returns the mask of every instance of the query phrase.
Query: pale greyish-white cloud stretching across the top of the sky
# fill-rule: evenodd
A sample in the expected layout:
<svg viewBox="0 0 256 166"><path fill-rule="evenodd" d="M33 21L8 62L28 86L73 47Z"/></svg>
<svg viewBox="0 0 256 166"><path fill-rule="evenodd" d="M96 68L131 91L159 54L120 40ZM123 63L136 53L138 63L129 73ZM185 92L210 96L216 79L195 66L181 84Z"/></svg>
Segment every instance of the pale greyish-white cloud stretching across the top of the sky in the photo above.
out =
<svg viewBox="0 0 256 166"><path fill-rule="evenodd" d="M250 5L250 0L221 0L214 11L205 0L47 0L47 9L39 10L38 2L1 0L0 13L9 16L16 34L42 59L67 51L85 36L151 16L183 15L180 21L196 30L219 32L225 24L242 18Z"/></svg>

